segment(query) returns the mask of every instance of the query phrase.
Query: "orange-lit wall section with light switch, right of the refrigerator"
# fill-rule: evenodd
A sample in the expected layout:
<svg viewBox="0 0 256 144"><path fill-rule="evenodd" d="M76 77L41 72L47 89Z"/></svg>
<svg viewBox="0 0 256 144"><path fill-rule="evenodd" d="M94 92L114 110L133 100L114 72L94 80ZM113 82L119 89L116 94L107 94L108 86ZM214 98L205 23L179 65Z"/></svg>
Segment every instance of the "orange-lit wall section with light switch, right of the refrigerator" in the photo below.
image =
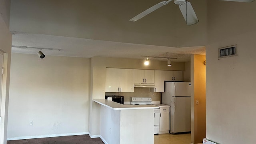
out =
<svg viewBox="0 0 256 144"><path fill-rule="evenodd" d="M206 137L206 66L203 55L191 56L191 142L198 144ZM196 100L199 104L196 104Z"/></svg>

